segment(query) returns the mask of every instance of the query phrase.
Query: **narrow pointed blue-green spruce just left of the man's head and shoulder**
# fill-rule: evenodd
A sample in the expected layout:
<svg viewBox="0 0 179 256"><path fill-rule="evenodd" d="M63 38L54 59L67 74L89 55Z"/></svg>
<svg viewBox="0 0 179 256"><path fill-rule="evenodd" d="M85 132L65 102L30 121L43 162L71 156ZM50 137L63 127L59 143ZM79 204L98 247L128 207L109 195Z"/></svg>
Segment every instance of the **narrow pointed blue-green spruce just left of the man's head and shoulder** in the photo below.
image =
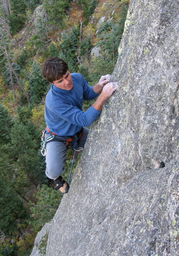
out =
<svg viewBox="0 0 179 256"><path fill-rule="evenodd" d="M42 101L47 86L48 82L40 72L40 65L34 60L29 79L31 104L38 104Z"/></svg>

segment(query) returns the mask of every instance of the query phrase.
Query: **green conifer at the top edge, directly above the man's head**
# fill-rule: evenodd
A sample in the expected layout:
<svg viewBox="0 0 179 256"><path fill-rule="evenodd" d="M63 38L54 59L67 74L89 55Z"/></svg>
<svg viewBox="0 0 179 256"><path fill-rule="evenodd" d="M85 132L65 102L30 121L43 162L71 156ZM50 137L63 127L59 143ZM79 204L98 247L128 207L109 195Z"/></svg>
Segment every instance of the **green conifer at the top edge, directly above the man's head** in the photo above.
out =
<svg viewBox="0 0 179 256"><path fill-rule="evenodd" d="M43 6L48 14L50 24L59 26L60 29L65 27L65 9L69 7L69 2L70 0L44 0Z"/></svg>

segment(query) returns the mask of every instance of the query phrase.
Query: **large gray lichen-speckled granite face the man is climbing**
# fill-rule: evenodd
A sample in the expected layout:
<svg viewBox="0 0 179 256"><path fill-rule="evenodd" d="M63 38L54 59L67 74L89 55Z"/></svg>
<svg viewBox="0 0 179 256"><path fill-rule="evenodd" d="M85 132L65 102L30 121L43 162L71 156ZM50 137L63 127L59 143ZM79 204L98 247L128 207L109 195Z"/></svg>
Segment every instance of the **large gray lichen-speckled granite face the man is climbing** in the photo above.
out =
<svg viewBox="0 0 179 256"><path fill-rule="evenodd" d="M178 254L179 1L131 0L111 81L46 256Z"/></svg>

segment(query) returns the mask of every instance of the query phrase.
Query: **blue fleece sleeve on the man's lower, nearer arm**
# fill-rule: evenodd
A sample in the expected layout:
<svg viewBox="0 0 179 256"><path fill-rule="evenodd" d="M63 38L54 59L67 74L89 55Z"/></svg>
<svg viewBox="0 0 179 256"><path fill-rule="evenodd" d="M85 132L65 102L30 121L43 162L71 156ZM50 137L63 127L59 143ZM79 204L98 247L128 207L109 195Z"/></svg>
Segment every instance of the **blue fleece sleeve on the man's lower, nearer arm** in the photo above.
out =
<svg viewBox="0 0 179 256"><path fill-rule="evenodd" d="M67 122L70 122L78 126L90 126L94 120L98 118L101 111L95 109L93 106L83 112L79 108L68 105L66 103L60 104L59 106L54 106L54 113L60 118Z"/></svg>

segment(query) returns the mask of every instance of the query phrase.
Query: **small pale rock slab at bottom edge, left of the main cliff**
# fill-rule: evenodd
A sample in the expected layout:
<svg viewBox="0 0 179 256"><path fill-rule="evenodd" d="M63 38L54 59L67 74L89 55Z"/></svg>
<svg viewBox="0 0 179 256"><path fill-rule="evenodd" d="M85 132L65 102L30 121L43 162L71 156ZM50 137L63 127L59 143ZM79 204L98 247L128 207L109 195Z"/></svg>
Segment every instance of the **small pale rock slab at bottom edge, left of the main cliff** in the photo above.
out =
<svg viewBox="0 0 179 256"><path fill-rule="evenodd" d="M45 241L47 241L48 230L50 226L51 222L46 223L37 233L34 241L34 247L30 256L45 256Z"/></svg>

